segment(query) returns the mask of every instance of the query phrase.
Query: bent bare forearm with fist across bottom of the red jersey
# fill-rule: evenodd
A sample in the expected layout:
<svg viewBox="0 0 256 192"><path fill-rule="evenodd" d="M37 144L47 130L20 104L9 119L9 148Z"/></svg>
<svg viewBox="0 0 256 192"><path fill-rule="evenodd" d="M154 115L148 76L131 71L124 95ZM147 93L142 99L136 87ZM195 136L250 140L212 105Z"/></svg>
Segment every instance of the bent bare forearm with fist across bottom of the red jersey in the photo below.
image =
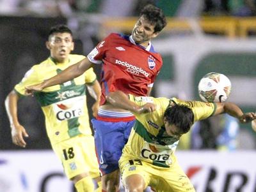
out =
<svg viewBox="0 0 256 192"><path fill-rule="evenodd" d="M136 103L130 101L129 96L122 91L109 92L106 96L106 100L115 107L138 114L154 112L154 110L156 110L156 106L153 103L146 103L143 106L136 105Z"/></svg>

